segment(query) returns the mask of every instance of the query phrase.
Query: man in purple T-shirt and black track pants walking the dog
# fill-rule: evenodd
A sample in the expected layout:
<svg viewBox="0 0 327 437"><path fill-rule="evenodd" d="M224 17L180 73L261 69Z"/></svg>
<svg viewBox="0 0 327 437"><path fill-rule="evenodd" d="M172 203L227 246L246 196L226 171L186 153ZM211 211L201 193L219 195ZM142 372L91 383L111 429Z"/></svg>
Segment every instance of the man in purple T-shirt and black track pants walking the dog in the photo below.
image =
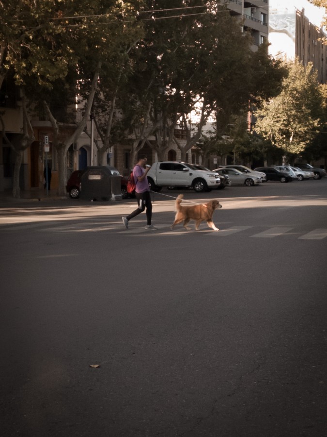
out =
<svg viewBox="0 0 327 437"><path fill-rule="evenodd" d="M148 183L148 178L146 177L150 167L144 169L147 162L146 155L139 155L139 161L133 168L133 177L135 181L135 196L138 201L138 208L129 214L127 217L122 217L125 228L128 229L128 222L131 218L138 216L146 208L146 226L145 229L157 228L151 223L152 219L152 203L150 197L150 187Z"/></svg>

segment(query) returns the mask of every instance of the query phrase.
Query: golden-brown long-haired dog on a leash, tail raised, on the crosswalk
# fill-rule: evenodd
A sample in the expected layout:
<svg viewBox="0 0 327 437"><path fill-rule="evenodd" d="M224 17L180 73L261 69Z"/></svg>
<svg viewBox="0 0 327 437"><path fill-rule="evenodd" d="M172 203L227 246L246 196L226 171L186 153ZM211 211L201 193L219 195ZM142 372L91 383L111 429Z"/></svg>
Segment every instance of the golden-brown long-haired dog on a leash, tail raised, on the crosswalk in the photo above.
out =
<svg viewBox="0 0 327 437"><path fill-rule="evenodd" d="M219 231L219 229L216 228L214 222L212 221L212 216L214 215L215 209L222 208L218 200L215 199L199 205L182 206L181 202L183 197L183 194L180 194L175 201L175 211L177 212L175 220L171 225L171 229L173 229L176 224L182 223L183 221L183 226L185 227L185 229L187 229L187 231L190 231L191 228L187 226L187 223L189 222L189 220L195 220L195 230L197 231L199 229L200 223L205 220L209 228L213 229L214 231Z"/></svg>

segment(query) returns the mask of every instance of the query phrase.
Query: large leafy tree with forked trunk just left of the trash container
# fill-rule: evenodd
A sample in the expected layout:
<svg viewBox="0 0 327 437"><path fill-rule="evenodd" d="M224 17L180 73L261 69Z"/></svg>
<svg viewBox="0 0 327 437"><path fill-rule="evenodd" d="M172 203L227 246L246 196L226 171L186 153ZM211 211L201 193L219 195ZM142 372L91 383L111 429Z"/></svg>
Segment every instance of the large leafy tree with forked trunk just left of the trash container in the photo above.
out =
<svg viewBox="0 0 327 437"><path fill-rule="evenodd" d="M39 0L37 7L30 0L3 4L1 79L14 70L16 85L24 87L26 97L37 101L39 110L44 106L54 131L61 195L66 153L87 125L101 69L139 38L135 8L140 4L140 0ZM83 117L73 132L63 130L53 112L54 102L61 96L62 107L63 103L74 107L78 94L85 99Z"/></svg>

